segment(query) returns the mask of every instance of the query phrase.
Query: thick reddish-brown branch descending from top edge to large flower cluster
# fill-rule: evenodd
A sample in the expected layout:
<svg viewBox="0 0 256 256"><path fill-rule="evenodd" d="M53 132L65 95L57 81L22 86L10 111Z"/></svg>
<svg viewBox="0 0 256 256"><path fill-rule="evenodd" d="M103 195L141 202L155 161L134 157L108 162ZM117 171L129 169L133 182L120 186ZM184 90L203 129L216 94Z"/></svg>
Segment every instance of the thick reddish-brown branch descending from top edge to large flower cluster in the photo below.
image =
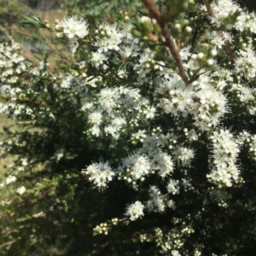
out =
<svg viewBox="0 0 256 256"><path fill-rule="evenodd" d="M183 67L183 61L181 60L180 55L176 49L176 46L171 38L172 35L166 24L165 16L160 13L159 9L157 9L157 7L155 6L154 0L142 0L142 2L144 3L146 9L148 9L148 11L150 12L152 17L155 20L157 20L158 24L160 25L162 35L166 39L165 44L168 47L168 49L170 49L173 59L176 62L178 74L183 79L183 82L185 84L189 84L189 79L187 78L187 75Z"/></svg>

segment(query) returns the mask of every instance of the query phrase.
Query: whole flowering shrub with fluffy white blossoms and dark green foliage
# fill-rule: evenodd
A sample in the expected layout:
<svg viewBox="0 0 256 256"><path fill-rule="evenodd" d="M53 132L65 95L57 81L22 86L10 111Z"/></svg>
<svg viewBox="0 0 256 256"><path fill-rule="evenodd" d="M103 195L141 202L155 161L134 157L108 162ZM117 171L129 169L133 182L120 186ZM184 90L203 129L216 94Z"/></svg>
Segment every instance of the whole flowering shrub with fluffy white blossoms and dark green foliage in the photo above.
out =
<svg viewBox="0 0 256 256"><path fill-rule="evenodd" d="M0 111L17 124L1 144L16 156L1 183L10 252L255 247L256 17L230 0L143 3L148 15L120 11L96 31L24 17L63 39L70 67L1 45Z"/></svg>

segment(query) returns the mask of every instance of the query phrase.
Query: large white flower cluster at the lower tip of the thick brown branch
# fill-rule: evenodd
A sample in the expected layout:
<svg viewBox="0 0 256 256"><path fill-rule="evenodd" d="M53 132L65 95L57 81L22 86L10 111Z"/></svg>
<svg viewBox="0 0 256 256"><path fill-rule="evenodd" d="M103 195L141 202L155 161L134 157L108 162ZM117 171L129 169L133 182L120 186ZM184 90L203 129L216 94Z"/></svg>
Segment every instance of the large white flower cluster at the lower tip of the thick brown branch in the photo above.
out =
<svg viewBox="0 0 256 256"><path fill-rule="evenodd" d="M175 75L171 80L163 81L156 92L164 96L160 99L160 108L165 113L174 116L191 114L201 130L218 125L219 119L227 112L226 96L214 89L208 77L201 76L199 81L186 85Z"/></svg>

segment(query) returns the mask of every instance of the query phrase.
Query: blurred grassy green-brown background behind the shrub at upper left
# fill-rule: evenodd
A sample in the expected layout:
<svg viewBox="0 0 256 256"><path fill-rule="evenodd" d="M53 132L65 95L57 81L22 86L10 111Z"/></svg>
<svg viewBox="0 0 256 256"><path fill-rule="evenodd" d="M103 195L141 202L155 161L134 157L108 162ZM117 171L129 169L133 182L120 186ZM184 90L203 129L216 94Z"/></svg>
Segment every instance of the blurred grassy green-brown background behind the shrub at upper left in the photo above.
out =
<svg viewBox="0 0 256 256"><path fill-rule="evenodd" d="M64 64L63 61L69 62L71 55L55 34L20 25L21 15L32 16L33 11L51 22L67 15L79 15L89 20L90 27L96 27L99 21L111 20L113 11L127 10L134 14L141 7L139 0L3 0L0 6L0 43L13 38L24 47L26 57L43 61L48 55L50 63Z"/></svg>

